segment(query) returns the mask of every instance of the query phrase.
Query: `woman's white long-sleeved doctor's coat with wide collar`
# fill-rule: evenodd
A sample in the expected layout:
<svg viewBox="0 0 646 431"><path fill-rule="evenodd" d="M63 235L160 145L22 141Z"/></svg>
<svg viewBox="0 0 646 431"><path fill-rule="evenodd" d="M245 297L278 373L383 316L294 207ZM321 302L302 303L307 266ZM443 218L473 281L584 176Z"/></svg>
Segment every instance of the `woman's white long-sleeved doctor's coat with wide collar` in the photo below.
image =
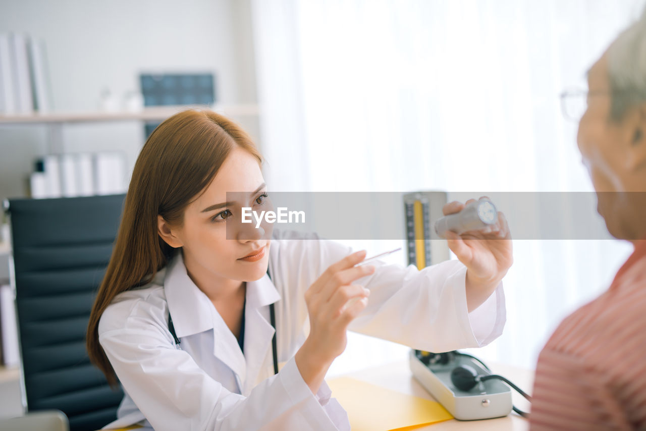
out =
<svg viewBox="0 0 646 431"><path fill-rule="evenodd" d="M107 428L141 423L157 431L349 430L348 415L328 385L312 394L294 361L309 332L304 292L349 253L337 242L295 239L293 233L275 230L269 247L271 280L264 275L247 282L244 354L188 277L181 253L150 284L120 293L99 321L99 342L125 391L119 419ZM422 271L374 264L375 273L355 282L371 293L351 330L429 352L483 346L502 333L502 284L468 313L461 262ZM280 364L276 375L272 303ZM180 346L168 328L169 312Z"/></svg>

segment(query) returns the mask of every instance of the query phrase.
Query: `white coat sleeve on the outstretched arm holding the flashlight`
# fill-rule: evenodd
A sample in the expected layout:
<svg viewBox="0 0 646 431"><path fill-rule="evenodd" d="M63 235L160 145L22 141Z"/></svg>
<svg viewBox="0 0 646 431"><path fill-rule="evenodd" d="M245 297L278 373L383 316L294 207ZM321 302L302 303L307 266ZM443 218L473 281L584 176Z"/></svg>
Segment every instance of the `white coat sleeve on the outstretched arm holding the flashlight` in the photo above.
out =
<svg viewBox="0 0 646 431"><path fill-rule="evenodd" d="M289 237L289 233L282 234L282 238ZM290 260L300 260L300 273L311 271L309 284L331 264L353 252L351 247L315 234L307 238L283 248L298 253ZM368 306L351 322L350 330L428 352L485 346L503 332L506 310L502 282L469 313L466 266L459 260L421 271L413 265L373 264L375 273L355 281L370 289L370 297Z"/></svg>

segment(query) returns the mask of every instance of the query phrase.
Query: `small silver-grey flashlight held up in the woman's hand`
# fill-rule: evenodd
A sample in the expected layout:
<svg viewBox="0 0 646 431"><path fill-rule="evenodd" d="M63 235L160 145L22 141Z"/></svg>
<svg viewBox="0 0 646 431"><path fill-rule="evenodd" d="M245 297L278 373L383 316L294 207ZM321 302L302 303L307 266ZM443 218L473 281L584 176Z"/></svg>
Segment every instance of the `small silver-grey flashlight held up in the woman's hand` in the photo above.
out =
<svg viewBox="0 0 646 431"><path fill-rule="evenodd" d="M462 211L439 218L435 222L435 233L444 238L446 231L460 235L467 231L479 231L496 222L498 212L494 204L487 198L482 198L465 205Z"/></svg>

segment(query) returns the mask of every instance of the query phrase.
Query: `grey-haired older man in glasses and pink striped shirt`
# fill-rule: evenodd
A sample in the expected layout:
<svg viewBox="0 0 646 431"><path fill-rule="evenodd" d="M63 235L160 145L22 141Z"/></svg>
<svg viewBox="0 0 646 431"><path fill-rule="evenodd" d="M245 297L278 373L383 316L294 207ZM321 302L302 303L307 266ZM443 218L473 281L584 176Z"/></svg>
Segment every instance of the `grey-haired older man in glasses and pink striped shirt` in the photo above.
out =
<svg viewBox="0 0 646 431"><path fill-rule="evenodd" d="M599 214L634 253L543 348L532 431L646 430L646 13L594 63L588 84L579 151Z"/></svg>

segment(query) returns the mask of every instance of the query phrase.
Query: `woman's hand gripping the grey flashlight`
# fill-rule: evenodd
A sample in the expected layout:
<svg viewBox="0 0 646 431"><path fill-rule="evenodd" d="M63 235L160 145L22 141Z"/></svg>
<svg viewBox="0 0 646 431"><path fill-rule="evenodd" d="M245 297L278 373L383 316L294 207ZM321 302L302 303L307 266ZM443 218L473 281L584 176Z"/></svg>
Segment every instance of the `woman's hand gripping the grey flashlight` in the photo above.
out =
<svg viewBox="0 0 646 431"><path fill-rule="evenodd" d="M459 213L464 205L471 202L475 202L475 199L464 204L450 202L444 205L442 211L444 215ZM514 262L507 219L498 211L495 224L483 231L469 231L461 235L449 231L445 236L448 247L466 266L466 304L471 312L490 297Z"/></svg>

